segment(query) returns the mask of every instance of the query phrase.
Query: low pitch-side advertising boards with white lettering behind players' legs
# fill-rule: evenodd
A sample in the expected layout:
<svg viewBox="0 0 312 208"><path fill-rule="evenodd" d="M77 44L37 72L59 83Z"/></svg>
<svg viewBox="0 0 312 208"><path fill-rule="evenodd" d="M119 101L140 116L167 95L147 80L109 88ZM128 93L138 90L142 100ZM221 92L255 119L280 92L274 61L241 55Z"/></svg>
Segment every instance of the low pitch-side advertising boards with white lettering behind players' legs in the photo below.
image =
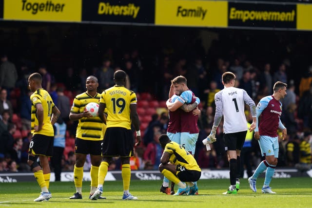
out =
<svg viewBox="0 0 312 208"><path fill-rule="evenodd" d="M264 177L264 173L260 175ZM299 171L296 169L276 169L273 178L292 178L292 177L312 177L312 170ZM162 180L162 174L157 170L133 170L131 171L131 180ZM200 179L229 179L229 170L208 170L203 169ZM244 178L247 178L247 173L245 172ZM121 171L108 171L105 181L116 181L122 180ZM36 181L34 174L32 172L1 172L0 173L0 183L17 183L17 182L27 182ZM55 181L54 172L51 172L51 182ZM74 181L73 172L62 172L61 181ZM83 173L83 181L91 181L90 172L85 171Z"/></svg>

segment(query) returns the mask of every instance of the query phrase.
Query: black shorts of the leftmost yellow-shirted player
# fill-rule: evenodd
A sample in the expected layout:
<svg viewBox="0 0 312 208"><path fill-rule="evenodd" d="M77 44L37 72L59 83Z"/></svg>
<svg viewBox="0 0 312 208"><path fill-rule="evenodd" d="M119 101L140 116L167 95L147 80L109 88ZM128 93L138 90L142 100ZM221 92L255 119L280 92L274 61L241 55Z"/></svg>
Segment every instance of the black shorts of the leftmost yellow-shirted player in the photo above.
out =
<svg viewBox="0 0 312 208"><path fill-rule="evenodd" d="M29 143L28 154L53 156L54 136L35 134Z"/></svg>

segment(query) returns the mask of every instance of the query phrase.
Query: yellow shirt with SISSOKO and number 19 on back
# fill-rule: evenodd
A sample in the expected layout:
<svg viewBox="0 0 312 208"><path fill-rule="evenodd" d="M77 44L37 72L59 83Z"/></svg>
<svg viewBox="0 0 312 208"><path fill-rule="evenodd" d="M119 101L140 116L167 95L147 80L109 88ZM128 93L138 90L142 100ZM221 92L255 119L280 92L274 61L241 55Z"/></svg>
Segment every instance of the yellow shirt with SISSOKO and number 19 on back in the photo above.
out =
<svg viewBox="0 0 312 208"><path fill-rule="evenodd" d="M100 103L107 109L106 125L131 129L130 104L137 103L137 95L123 86L111 87L101 94Z"/></svg>

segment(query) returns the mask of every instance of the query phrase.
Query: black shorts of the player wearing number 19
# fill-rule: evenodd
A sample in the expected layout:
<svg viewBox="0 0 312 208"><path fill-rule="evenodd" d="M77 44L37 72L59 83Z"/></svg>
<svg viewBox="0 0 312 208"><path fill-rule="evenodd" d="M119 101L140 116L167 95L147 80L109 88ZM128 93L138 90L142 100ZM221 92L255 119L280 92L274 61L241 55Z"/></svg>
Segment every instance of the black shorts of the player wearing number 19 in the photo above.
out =
<svg viewBox="0 0 312 208"><path fill-rule="evenodd" d="M106 129L102 156L133 156L134 136L131 129L110 127Z"/></svg>

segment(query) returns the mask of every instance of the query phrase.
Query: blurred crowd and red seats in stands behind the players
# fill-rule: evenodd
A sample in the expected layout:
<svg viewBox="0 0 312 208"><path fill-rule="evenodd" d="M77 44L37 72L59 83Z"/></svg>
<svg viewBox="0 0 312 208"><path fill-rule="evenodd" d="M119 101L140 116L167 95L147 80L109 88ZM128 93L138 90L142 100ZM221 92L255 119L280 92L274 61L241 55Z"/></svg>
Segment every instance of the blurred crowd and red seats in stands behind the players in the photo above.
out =
<svg viewBox="0 0 312 208"><path fill-rule="evenodd" d="M195 46L198 46L197 43L192 45ZM143 61L144 56L137 48L121 55L108 50L100 66L80 70L68 67L66 72L61 73L49 70L45 65L31 68L26 63L16 69L15 64L10 62L10 57L3 55L0 66L0 171L30 171L27 166L27 151L31 139L31 102L28 90L28 76L31 73L39 72L42 75L42 87L51 94L61 112L60 117L67 125L61 167L62 171L72 171L75 164L77 123L70 121L68 115L73 99L86 90L87 76L98 77L99 92L102 92L113 86L113 74L120 68L128 75L127 88L137 93L137 112L141 122L142 144L135 149L135 156L131 158L133 170L156 170L158 167L162 149L157 138L161 133L166 133L168 125L165 101L168 99L170 80L178 75L187 78L188 87L201 100L198 106L201 110L198 120L200 132L195 151L199 166L211 169L228 166L221 124L211 151L206 151L201 143L211 131L215 114L214 96L223 88L221 75L226 71L236 75L236 87L246 90L256 104L262 97L273 94L275 81L288 84L287 95L282 100L281 116L288 130L288 138L286 141L279 139L277 166L308 169L311 166L312 144L312 66L301 71L303 75L300 79L293 79L291 69L294 68L288 58L281 58L273 68L270 61L256 61L231 47L227 47L229 51L226 56L221 56L220 46L220 41L212 43L208 52L210 62L206 62L205 55L199 53L200 49L196 50L195 56L177 56L170 48L166 48L161 55L153 55L154 59L151 59L149 65ZM246 117L250 118L248 114ZM249 142L249 164L254 168L261 161L261 153L254 138ZM84 169L90 169L88 159ZM109 170L120 170L118 158Z"/></svg>

